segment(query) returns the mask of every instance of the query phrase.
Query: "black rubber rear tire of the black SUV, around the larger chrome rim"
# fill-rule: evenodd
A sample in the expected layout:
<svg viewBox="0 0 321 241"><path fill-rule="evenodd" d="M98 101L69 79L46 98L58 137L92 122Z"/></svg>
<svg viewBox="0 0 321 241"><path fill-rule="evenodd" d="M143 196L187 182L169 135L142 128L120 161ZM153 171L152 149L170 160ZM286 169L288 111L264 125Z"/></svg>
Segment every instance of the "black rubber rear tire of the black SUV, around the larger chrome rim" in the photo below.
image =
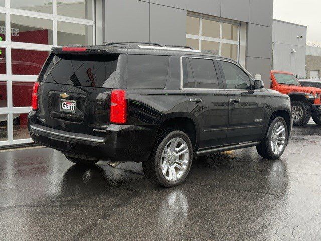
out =
<svg viewBox="0 0 321 241"><path fill-rule="evenodd" d="M177 144L172 149L170 146L170 141L175 144L176 140L178 140ZM186 145L183 146L183 143ZM182 149L177 151L175 150L182 146ZM172 149L179 154L178 158L181 159L180 163L178 162L175 154L168 152L169 149ZM185 152L180 154L180 152L183 152L184 150ZM169 156L171 158L168 158ZM182 161L183 159L185 161ZM162 187L174 187L181 184L185 180L190 172L192 160L193 148L191 140L184 132L172 130L163 132L158 136L151 158L147 161L144 161L142 163L142 167L144 174L149 181ZM162 172L162 164L164 167L163 170L166 170L165 174ZM179 165L180 168L178 168L177 165Z"/></svg>

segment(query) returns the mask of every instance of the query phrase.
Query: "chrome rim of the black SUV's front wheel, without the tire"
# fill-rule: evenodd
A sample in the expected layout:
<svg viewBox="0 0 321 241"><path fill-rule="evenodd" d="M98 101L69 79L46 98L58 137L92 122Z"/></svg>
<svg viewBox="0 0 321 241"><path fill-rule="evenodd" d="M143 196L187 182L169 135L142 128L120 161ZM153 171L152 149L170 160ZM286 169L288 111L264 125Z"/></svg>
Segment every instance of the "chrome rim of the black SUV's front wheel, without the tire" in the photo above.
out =
<svg viewBox="0 0 321 241"><path fill-rule="evenodd" d="M279 155L285 147L286 130L282 122L277 122L272 129L271 148L275 155Z"/></svg>

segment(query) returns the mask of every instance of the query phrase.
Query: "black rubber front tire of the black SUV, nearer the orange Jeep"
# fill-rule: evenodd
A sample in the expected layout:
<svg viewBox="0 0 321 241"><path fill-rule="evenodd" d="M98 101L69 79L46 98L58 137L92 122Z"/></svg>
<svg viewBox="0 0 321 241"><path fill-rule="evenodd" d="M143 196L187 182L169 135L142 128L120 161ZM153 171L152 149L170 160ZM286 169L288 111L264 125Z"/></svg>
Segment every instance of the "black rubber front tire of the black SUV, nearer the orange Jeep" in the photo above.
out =
<svg viewBox="0 0 321 241"><path fill-rule="evenodd" d="M279 125L280 123L283 124L283 128L284 128L285 132L280 133L279 136L273 137L272 134L274 134L274 128L276 127L276 130L277 130L278 129L277 125ZM280 125L279 127L282 127L282 125ZM279 131L281 131L281 129ZM283 134L284 134L284 136L283 136ZM283 137L284 137L284 140L283 140ZM279 153L276 152L275 146L272 148L271 142L273 140L284 141L282 150L280 150ZM267 129L267 132L266 132L262 142L258 146L256 146L256 150L261 157L263 157L265 159L269 159L269 160L275 160L275 159L278 159L282 156L282 154L285 150L286 144L287 144L287 140L288 140L288 130L287 130L286 122L284 121L284 119L282 117L276 116L271 120L269 127ZM280 147L281 147L281 145L280 145ZM278 148L280 148L280 147L278 146ZM275 151L273 151L273 149Z"/></svg>

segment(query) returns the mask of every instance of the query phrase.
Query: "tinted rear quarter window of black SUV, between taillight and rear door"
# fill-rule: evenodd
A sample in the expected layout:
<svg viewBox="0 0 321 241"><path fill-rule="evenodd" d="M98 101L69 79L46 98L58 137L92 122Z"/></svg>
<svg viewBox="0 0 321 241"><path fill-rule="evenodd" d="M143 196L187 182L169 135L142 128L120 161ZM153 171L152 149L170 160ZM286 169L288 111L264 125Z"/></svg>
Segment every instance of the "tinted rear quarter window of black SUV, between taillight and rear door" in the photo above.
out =
<svg viewBox="0 0 321 241"><path fill-rule="evenodd" d="M128 55L127 88L164 88L168 67L169 56Z"/></svg>

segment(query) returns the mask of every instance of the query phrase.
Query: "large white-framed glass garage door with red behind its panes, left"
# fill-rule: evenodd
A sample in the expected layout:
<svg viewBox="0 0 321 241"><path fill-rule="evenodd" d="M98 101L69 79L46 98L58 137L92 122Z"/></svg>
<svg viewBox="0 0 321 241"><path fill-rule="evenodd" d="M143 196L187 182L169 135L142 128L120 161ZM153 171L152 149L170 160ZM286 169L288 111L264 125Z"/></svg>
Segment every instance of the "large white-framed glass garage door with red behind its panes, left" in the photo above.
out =
<svg viewBox="0 0 321 241"><path fill-rule="evenodd" d="M32 142L32 87L51 47L93 44L94 25L94 0L0 0L0 146Z"/></svg>

